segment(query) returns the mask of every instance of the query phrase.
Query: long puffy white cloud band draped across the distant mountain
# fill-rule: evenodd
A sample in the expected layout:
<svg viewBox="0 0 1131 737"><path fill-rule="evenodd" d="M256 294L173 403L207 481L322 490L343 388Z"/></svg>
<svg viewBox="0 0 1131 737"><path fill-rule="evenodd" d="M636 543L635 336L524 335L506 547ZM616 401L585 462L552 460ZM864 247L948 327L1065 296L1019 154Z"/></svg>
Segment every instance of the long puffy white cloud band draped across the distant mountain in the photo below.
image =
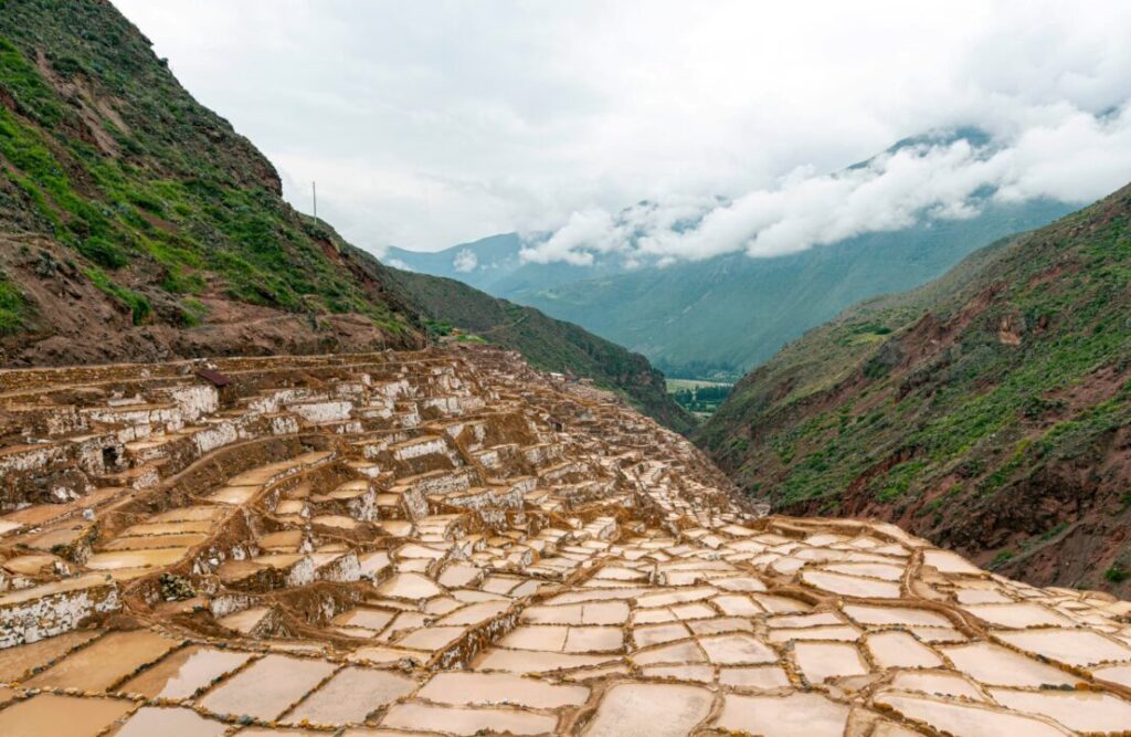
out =
<svg viewBox="0 0 1131 737"><path fill-rule="evenodd" d="M575 213L549 239L527 245L523 258L585 265L594 254L616 252L666 265L736 251L782 256L862 233L972 217L994 200L1082 204L1129 180L1131 106L1098 117L1065 111L1013 140L935 137L831 174L797 170L775 187L701 211L683 228L672 226L687 218L683 203L673 205L679 220L662 215L663 203L647 217L638 208Z"/></svg>

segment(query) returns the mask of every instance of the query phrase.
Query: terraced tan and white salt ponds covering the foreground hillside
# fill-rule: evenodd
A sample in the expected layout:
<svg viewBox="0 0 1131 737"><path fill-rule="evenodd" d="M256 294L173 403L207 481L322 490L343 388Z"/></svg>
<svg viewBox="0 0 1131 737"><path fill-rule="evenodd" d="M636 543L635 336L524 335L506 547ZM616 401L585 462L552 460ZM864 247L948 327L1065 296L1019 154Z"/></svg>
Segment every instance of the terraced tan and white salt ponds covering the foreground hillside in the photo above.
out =
<svg viewBox="0 0 1131 737"><path fill-rule="evenodd" d="M1131 605L465 348L0 371L0 732L1116 732Z"/></svg>

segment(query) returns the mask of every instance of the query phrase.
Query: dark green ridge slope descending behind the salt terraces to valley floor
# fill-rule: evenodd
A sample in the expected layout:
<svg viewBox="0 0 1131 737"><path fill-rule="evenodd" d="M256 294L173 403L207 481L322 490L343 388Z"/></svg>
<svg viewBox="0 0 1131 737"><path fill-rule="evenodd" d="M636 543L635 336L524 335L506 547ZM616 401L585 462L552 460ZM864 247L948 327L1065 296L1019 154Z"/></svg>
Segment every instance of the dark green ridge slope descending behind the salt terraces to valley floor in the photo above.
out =
<svg viewBox="0 0 1131 737"><path fill-rule="evenodd" d="M396 277L433 320L517 350L543 370L590 377L679 432L694 427L694 419L667 394L664 375L645 357L460 282L409 272L396 272Z"/></svg>

